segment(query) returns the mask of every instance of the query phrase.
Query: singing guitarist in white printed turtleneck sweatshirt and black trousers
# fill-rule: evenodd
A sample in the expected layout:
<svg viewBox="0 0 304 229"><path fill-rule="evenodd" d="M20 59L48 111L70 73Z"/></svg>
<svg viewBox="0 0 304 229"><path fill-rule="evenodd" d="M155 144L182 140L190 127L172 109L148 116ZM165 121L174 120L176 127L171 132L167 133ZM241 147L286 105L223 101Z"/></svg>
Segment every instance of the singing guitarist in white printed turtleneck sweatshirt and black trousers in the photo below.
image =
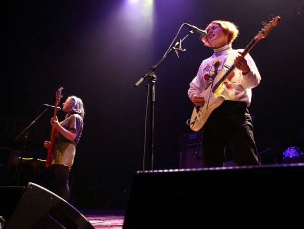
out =
<svg viewBox="0 0 304 229"><path fill-rule="evenodd" d="M189 98L197 108L210 107L211 113L202 128L204 167L222 167L225 147L231 149L238 166L260 165L248 111L251 89L261 80L259 72L251 56L247 53L243 56L244 49L232 49L239 34L233 22L215 20L206 31L207 36L201 39L206 46L213 48L214 54L202 61L188 89ZM224 89L220 96L224 100L219 105L214 103L212 108L208 104L211 101L209 95L214 95L213 86L227 70L233 71L221 85Z"/></svg>

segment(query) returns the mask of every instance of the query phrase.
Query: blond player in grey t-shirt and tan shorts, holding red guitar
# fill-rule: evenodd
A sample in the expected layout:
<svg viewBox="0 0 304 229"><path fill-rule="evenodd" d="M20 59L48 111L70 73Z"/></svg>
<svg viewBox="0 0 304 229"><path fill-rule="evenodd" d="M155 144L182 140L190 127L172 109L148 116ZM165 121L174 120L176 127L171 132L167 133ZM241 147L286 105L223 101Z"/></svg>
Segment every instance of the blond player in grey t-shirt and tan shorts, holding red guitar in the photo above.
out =
<svg viewBox="0 0 304 229"><path fill-rule="evenodd" d="M69 200L69 172L73 165L76 146L83 130L85 109L82 100L77 96L69 96L62 104L66 112L65 119L58 122L51 119L51 125L58 130L57 139L52 149L52 173L55 193L65 201ZM45 141L44 147L49 148L51 142Z"/></svg>

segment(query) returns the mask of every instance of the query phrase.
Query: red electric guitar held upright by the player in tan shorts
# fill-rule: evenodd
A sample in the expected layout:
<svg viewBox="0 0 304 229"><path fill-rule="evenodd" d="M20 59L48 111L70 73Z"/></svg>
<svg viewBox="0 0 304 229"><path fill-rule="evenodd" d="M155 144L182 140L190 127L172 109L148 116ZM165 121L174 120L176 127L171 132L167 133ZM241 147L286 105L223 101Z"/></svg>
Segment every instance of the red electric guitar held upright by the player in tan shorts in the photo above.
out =
<svg viewBox="0 0 304 229"><path fill-rule="evenodd" d="M53 116L53 118L55 120L56 120L56 115L57 115L57 107L60 103L60 99L63 97L63 95L61 93L62 90L63 90L63 87L60 87L56 92L56 101L55 101L54 116ZM48 155L47 155L47 159L46 159L46 163L45 163L46 168L49 168L52 164L52 160L54 157L52 150L53 150L56 138L57 138L57 129L52 127L51 140L50 140L51 143L48 148Z"/></svg>

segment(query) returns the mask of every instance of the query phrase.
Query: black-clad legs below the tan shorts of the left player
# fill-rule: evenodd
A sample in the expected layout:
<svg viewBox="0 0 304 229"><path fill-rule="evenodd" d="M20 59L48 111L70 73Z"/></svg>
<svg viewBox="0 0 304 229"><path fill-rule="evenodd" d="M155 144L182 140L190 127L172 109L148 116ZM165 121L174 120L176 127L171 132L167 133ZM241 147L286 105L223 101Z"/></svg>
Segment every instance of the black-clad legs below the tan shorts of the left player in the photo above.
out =
<svg viewBox="0 0 304 229"><path fill-rule="evenodd" d="M64 165L53 165L53 179L55 193L59 195L65 201L69 199L69 185L68 185L68 175L69 168Z"/></svg>

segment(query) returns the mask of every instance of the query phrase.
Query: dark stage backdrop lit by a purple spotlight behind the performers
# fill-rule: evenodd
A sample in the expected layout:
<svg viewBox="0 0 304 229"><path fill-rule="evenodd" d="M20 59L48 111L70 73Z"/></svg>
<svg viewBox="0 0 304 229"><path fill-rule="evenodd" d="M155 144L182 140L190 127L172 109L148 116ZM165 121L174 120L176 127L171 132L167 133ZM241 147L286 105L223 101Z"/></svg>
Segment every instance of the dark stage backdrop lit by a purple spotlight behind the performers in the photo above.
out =
<svg viewBox="0 0 304 229"><path fill-rule="evenodd" d="M182 23L205 29L214 19L234 21L240 36L233 47L244 48L263 21L281 16L269 36L250 51L262 81L253 89L249 110L258 151L270 154L263 163L281 163L287 147L303 146L304 1L167 0L149 7L147 2L6 3L1 185L33 181L52 190L50 171L36 160L23 161L16 179L13 157L46 156L43 141L50 138L53 111L29 128L26 142L23 135L14 139L44 111L42 104L54 105L56 90L64 87L60 106L73 94L82 98L86 109L71 171L71 203L81 208L124 208L133 175L143 170L146 81L137 88L134 83L161 59ZM178 39L187 32L182 27ZM196 33L183 41L182 48L186 52L179 52L180 58L171 53L155 71L154 169L179 168L179 137L193 133L186 125L193 110L189 82L201 61L212 54ZM59 112L58 118L63 117Z"/></svg>

